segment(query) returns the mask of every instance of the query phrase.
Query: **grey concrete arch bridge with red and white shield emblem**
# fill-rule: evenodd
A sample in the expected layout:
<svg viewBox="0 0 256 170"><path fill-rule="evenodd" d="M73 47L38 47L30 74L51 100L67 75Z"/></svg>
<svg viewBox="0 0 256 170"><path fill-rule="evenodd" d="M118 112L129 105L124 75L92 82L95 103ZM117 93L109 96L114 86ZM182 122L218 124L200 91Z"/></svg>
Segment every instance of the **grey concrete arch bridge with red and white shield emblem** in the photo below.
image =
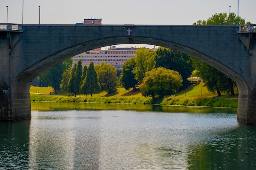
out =
<svg viewBox="0 0 256 170"><path fill-rule="evenodd" d="M113 44L152 44L206 62L239 90L237 120L256 123L255 25L0 24L0 120L31 118L29 87L69 57Z"/></svg>

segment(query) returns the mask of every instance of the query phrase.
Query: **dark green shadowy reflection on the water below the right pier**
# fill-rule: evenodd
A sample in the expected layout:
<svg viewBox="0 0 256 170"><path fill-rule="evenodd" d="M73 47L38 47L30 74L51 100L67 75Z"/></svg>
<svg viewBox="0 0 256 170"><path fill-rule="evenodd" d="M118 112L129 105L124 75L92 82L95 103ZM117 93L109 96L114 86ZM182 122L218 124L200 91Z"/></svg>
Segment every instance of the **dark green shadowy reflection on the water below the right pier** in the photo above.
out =
<svg viewBox="0 0 256 170"><path fill-rule="evenodd" d="M256 127L240 124L211 136L203 144L190 145L189 170L255 170Z"/></svg>

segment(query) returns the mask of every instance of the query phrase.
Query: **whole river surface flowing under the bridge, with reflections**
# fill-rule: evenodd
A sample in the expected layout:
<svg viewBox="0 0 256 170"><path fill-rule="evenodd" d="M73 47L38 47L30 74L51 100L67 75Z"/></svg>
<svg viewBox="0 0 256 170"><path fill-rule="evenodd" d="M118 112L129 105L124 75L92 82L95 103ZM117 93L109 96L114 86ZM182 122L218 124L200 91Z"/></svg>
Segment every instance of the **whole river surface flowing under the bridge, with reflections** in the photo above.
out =
<svg viewBox="0 0 256 170"><path fill-rule="evenodd" d="M236 109L31 107L31 120L0 122L0 170L256 169L256 125L238 123Z"/></svg>

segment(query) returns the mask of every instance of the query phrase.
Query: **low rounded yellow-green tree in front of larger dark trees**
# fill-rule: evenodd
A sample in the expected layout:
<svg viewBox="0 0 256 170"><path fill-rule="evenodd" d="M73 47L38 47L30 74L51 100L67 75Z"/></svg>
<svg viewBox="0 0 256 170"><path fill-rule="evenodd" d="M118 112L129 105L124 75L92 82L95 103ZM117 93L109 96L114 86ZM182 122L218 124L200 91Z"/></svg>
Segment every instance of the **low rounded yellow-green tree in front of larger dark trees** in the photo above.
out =
<svg viewBox="0 0 256 170"><path fill-rule="evenodd" d="M182 86L180 73L159 67L146 72L139 88L143 96L164 97L164 95L176 93L180 86Z"/></svg>

